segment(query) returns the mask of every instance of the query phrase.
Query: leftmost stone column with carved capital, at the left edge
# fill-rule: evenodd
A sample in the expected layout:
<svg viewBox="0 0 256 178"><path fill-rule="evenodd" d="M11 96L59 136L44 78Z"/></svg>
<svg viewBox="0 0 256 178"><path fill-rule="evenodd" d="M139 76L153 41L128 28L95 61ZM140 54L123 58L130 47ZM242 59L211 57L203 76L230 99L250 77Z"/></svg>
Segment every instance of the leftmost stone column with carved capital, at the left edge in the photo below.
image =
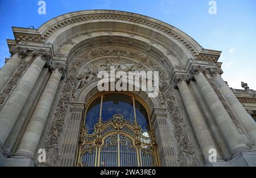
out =
<svg viewBox="0 0 256 178"><path fill-rule="evenodd" d="M20 61L26 57L27 48L11 47L10 53L11 59L0 69L0 92L19 67Z"/></svg>

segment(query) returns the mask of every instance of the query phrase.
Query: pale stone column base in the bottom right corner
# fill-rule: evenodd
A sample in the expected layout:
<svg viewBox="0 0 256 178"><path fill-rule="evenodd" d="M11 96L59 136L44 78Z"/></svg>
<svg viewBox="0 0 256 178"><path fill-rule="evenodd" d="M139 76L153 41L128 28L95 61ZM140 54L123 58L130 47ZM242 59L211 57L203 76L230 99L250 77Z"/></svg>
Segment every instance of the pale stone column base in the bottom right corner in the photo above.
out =
<svg viewBox="0 0 256 178"><path fill-rule="evenodd" d="M256 152L241 152L231 160L231 165L236 167L256 167Z"/></svg>

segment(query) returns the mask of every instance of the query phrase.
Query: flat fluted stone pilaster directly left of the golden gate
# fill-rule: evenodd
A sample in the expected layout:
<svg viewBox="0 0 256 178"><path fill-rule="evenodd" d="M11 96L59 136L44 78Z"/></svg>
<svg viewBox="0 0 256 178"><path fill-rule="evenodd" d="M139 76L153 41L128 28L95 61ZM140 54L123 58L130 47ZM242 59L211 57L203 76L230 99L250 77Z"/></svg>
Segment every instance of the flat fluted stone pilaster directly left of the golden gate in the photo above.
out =
<svg viewBox="0 0 256 178"><path fill-rule="evenodd" d="M71 117L68 121L68 128L63 143L63 151L60 159L61 167L72 167L75 165L76 150L81 131L81 121L85 108L84 102L73 102L71 104Z"/></svg>

